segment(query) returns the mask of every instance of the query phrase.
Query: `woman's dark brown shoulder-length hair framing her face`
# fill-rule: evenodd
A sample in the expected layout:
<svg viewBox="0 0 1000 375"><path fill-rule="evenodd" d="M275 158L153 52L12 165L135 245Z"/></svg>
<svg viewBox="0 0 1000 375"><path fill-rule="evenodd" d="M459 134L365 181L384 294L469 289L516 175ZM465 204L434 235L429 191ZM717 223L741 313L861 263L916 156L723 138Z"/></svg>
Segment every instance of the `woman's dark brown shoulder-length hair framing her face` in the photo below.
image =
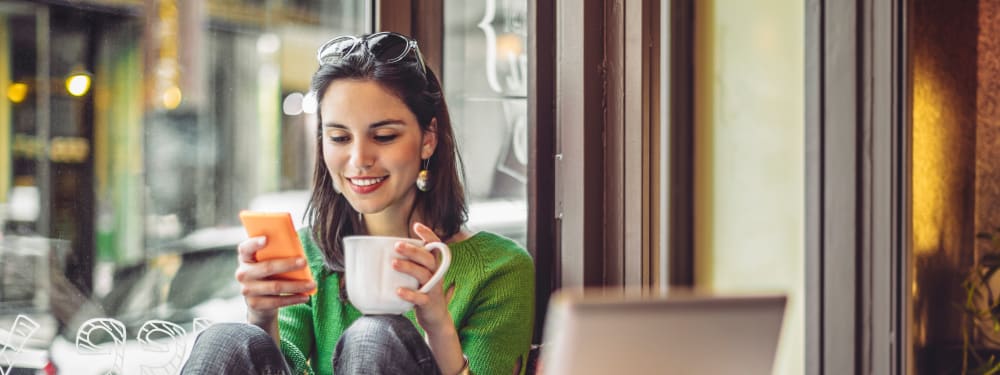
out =
<svg viewBox="0 0 1000 375"><path fill-rule="evenodd" d="M312 78L311 89L316 94L316 101L322 103L330 84L342 79L368 80L389 90L413 112L422 131L429 131L431 120L437 119L437 148L427 166L431 188L426 192L417 189L410 218L419 210L424 224L434 229L442 240L458 233L468 218L465 191L460 179L461 159L441 83L434 72L418 62L415 51L393 63L378 61L364 52L355 52L320 65ZM323 251L326 267L342 271L344 251L341 240L352 234L363 234L365 229L358 212L333 189L330 171L323 159L323 118L320 111L316 111L316 116L319 118L316 167L306 216L312 225L313 239Z"/></svg>

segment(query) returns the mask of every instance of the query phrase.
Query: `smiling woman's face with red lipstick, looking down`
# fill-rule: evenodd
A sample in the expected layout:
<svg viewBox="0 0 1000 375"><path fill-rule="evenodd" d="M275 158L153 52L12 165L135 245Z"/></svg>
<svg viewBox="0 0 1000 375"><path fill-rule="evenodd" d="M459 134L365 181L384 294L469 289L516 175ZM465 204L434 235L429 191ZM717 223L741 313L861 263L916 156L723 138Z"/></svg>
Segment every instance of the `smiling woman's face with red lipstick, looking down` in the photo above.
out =
<svg viewBox="0 0 1000 375"><path fill-rule="evenodd" d="M374 81L334 81L320 115L323 162L337 190L358 212L406 217L434 132L424 134L409 107Z"/></svg>

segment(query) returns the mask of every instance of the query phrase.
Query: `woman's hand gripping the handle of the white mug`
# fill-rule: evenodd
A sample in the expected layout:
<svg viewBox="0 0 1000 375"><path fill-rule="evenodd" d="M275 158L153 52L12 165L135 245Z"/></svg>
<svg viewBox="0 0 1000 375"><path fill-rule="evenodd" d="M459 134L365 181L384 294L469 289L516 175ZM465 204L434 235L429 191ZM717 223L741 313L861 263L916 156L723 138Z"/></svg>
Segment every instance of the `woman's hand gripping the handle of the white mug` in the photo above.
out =
<svg viewBox="0 0 1000 375"><path fill-rule="evenodd" d="M437 234L426 225L416 223L413 232L425 243L441 242ZM438 269L438 259L434 253L406 242L396 244L396 253L407 259L396 259L392 267L399 272L413 276L422 287L431 279ZM454 327L451 314L448 313L448 301L443 291L444 282L435 285L429 292L420 293L409 288L399 288L396 294L404 301L416 306L417 322L425 331L431 333L442 327Z"/></svg>

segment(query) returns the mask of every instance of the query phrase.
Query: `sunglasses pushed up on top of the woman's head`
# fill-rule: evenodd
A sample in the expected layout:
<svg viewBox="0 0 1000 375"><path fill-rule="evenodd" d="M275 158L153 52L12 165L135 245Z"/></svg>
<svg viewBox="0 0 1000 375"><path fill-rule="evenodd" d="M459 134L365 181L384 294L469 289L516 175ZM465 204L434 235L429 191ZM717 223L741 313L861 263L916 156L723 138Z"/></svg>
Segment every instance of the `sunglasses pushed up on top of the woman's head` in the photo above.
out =
<svg viewBox="0 0 1000 375"><path fill-rule="evenodd" d="M396 63L408 56L410 51L415 51L420 70L426 72L424 57L420 54L417 41L390 31L364 37L344 35L330 39L316 51L316 60L319 61L320 65L335 62L358 51L359 45L362 46L361 49L365 53L374 57L376 61L389 64Z"/></svg>

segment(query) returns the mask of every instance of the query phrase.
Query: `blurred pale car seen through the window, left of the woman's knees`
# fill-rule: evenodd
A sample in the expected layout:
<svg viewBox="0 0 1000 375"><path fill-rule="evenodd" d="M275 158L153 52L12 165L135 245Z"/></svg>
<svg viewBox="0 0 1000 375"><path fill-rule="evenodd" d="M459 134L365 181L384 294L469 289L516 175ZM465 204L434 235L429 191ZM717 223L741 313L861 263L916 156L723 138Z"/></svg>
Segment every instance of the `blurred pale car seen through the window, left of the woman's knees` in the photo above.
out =
<svg viewBox="0 0 1000 375"><path fill-rule="evenodd" d="M73 374L173 374L197 333L245 320L236 272L242 227L192 233L120 270L100 304L103 316L76 317L52 344L55 366Z"/></svg>

